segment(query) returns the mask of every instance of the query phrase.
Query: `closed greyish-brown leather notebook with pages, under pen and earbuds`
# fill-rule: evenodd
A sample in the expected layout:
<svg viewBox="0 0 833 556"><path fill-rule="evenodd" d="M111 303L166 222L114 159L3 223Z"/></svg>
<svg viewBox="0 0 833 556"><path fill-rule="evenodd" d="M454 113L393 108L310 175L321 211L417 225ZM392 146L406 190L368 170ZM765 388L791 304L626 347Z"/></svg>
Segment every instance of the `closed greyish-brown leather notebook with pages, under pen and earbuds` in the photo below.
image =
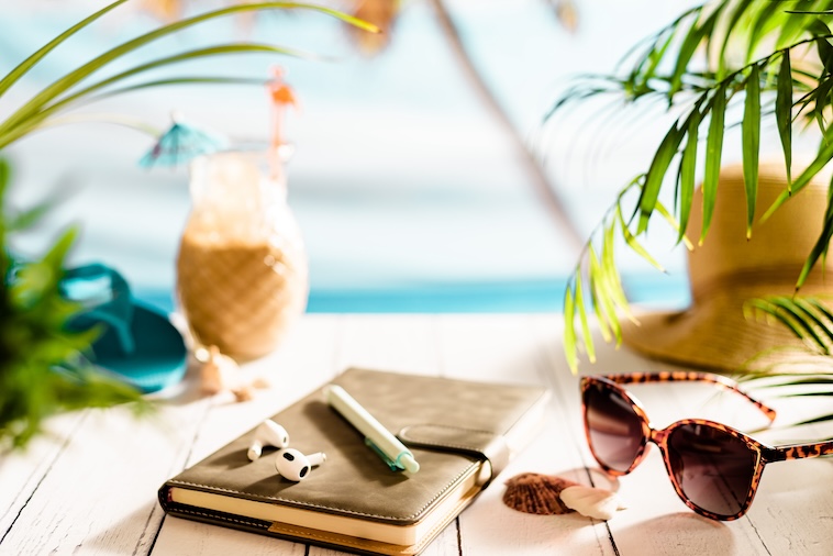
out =
<svg viewBox="0 0 833 556"><path fill-rule="evenodd" d="M271 418L290 447L326 454L302 481L277 474L275 448L248 460L253 429L166 481L163 509L358 554L419 554L538 432L548 399L541 387L358 368L332 383L408 446L418 472L391 470L316 389Z"/></svg>

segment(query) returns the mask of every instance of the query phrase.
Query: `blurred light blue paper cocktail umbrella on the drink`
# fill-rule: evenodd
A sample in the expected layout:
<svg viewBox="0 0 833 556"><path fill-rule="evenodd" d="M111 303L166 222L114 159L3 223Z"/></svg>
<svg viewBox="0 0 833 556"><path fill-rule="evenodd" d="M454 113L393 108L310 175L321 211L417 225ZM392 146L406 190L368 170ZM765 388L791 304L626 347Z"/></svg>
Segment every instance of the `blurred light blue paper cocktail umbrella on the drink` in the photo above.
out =
<svg viewBox="0 0 833 556"><path fill-rule="evenodd" d="M143 168L174 167L197 156L227 148L229 141L220 134L200 130L174 116L174 124L163 133L156 144L138 160Z"/></svg>

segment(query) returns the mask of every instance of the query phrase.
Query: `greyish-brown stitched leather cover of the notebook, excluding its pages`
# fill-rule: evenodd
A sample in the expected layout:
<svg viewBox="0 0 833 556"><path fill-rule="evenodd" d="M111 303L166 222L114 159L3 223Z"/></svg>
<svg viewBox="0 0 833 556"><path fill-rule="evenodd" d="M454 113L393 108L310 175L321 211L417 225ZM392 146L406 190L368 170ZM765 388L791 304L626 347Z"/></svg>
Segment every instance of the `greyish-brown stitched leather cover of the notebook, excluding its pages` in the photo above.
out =
<svg viewBox="0 0 833 556"><path fill-rule="evenodd" d="M452 380L437 377L404 375L352 368L336 377L341 385L379 422L395 434L411 426L440 426L477 437L493 433L511 440L514 429L529 430L532 410L543 408L547 391L540 387L495 385ZM323 385L322 385L323 387ZM543 412L542 412L543 416ZM265 501L290 508L343 515L362 520L363 527L373 523L409 526L419 523L459 485L462 478L480 472L485 456L477 451L457 449L456 443L440 442L437 446L409 445L420 471L391 471L364 443L364 437L323 399L321 388L273 418L290 436L290 446L304 454L324 452L327 460L314 468L301 482L279 477L275 470L274 451L249 462L246 452L254 429L202 462L168 480L159 489L163 508L184 518L264 534L307 541L367 554L414 554L451 522L488 480L480 481L473 492L462 497L449 515L438 522L436 531L418 538L413 545L387 545L348 535L322 535L311 531L269 521L242 520L235 515L171 503L171 487L216 494ZM522 441L524 442L524 441ZM422 444L422 443L421 443ZM510 449L520 448L515 446ZM510 446L510 448L512 448ZM271 456L271 457L270 457ZM496 469L499 470L499 469ZM370 525L371 526L371 525Z"/></svg>

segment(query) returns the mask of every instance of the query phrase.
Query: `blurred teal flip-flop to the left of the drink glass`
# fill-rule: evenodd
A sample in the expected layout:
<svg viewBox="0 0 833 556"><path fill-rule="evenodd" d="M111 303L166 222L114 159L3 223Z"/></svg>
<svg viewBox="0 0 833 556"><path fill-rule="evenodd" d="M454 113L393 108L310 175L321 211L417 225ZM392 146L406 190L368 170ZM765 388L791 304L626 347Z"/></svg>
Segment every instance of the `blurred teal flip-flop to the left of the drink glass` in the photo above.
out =
<svg viewBox="0 0 833 556"><path fill-rule="evenodd" d="M62 294L84 307L74 330L103 325L92 344L92 363L145 393L173 386L185 376L182 335L159 310L131 298L126 280L114 269L91 264L66 271Z"/></svg>

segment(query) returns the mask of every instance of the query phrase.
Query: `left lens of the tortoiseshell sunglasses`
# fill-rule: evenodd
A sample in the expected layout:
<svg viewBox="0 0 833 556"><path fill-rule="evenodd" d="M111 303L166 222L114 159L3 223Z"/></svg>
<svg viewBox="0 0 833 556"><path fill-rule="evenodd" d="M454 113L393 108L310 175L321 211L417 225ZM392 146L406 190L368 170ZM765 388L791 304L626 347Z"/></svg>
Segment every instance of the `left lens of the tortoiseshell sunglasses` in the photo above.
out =
<svg viewBox="0 0 833 556"><path fill-rule="evenodd" d="M590 448L600 464L614 471L631 468L645 446L642 420L619 391L592 383L584 394Z"/></svg>

